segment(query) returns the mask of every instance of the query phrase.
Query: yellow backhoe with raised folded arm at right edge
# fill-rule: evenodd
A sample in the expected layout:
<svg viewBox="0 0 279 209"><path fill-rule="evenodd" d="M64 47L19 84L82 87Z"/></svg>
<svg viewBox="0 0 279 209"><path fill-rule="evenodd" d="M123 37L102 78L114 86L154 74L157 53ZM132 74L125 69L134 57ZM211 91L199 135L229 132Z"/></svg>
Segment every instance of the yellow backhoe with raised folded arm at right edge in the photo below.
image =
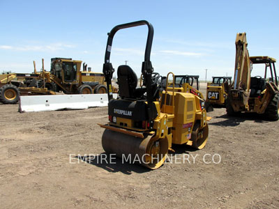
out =
<svg viewBox="0 0 279 209"><path fill-rule="evenodd" d="M270 56L249 56L246 33L236 35L234 82L229 86L226 109L228 115L253 112L269 120L279 118L279 89L276 59ZM252 66L265 65L264 77L251 77ZM270 72L268 77L268 71Z"/></svg>

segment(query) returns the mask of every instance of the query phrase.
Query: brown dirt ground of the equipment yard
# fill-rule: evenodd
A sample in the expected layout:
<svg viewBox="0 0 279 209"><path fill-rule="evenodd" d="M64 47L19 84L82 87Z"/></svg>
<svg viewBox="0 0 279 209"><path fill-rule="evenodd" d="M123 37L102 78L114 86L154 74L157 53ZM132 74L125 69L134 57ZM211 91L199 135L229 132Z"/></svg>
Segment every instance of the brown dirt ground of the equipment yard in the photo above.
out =
<svg viewBox="0 0 279 209"><path fill-rule="evenodd" d="M203 150L174 146L150 171L100 164L107 107L17 108L0 104L0 208L279 208L278 121L215 109Z"/></svg>

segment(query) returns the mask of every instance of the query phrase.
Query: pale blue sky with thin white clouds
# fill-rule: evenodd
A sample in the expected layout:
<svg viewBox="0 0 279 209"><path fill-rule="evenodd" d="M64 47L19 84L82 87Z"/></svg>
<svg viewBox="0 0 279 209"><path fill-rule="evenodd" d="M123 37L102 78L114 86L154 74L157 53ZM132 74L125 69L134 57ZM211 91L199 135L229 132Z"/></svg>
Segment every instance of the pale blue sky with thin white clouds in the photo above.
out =
<svg viewBox="0 0 279 209"><path fill-rule="evenodd" d="M266 1L267 2L267 1ZM6 1L0 0L0 72L50 69L52 57L82 60L102 72L107 32L117 24L153 24L153 68L161 75L234 74L236 33L246 32L250 56L279 59L279 1ZM140 75L147 27L114 36L114 68L128 61ZM276 68L278 68L276 63ZM255 68L252 75L263 75Z"/></svg>

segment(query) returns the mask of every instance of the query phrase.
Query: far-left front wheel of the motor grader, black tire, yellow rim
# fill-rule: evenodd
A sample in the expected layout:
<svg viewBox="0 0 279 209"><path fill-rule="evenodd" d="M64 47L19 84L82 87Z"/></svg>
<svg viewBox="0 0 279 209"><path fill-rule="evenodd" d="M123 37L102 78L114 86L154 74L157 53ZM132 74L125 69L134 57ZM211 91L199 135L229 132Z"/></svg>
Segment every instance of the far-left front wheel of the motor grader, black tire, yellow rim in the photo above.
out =
<svg viewBox="0 0 279 209"><path fill-rule="evenodd" d="M3 104L15 104L20 100L20 91L13 84L6 84L0 88L0 102Z"/></svg>

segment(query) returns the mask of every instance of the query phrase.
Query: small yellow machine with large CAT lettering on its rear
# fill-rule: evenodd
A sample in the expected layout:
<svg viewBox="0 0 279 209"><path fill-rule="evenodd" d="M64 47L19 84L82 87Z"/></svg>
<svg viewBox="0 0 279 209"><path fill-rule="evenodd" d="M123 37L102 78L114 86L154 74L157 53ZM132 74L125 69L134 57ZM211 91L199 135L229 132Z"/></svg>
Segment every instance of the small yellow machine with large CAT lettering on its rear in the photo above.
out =
<svg viewBox="0 0 279 209"><path fill-rule="evenodd" d="M227 89L231 84L232 77L212 77L212 82L206 86L206 102L225 107Z"/></svg>

